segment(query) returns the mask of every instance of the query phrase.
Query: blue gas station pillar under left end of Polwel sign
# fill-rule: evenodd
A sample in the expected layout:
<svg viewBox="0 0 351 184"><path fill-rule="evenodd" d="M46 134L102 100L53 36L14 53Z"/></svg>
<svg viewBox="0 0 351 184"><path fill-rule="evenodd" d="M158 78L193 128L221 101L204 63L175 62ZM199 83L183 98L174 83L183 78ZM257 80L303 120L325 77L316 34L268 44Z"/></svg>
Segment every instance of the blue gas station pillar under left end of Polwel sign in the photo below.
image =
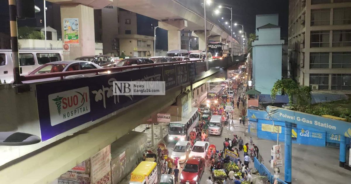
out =
<svg viewBox="0 0 351 184"><path fill-rule="evenodd" d="M291 123L285 122L285 167L284 167L284 178L285 182L291 184Z"/></svg>

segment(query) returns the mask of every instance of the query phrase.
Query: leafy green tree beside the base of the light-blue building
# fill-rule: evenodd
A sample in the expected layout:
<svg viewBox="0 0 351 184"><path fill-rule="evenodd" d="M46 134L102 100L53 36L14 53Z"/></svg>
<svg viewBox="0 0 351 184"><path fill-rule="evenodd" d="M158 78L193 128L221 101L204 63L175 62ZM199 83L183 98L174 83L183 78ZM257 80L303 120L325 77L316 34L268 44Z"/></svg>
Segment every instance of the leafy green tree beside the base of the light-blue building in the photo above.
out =
<svg viewBox="0 0 351 184"><path fill-rule="evenodd" d="M278 93L288 95L290 105L300 107L311 102L311 88L309 86L301 87L299 83L292 79L282 79L274 83L271 89L272 102L274 102Z"/></svg>

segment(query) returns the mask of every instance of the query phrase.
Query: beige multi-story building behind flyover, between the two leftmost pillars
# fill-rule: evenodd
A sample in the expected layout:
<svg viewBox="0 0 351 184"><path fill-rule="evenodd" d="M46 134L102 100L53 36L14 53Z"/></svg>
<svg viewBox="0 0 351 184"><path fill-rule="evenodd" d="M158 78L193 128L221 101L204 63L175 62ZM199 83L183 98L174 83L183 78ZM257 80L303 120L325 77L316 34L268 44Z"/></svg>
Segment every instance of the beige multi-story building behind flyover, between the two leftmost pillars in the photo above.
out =
<svg viewBox="0 0 351 184"><path fill-rule="evenodd" d="M131 57L153 56L154 37L138 34L136 13L109 5L94 11L94 21L95 40L104 44L104 54L115 57L122 53ZM152 29L151 23L149 28Z"/></svg>

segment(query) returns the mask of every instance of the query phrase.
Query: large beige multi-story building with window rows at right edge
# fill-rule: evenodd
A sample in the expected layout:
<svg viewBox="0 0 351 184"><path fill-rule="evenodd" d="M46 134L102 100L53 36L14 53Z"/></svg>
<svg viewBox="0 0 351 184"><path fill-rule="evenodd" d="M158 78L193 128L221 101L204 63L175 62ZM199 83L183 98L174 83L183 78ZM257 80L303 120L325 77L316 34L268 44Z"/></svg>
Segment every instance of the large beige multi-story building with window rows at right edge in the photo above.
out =
<svg viewBox="0 0 351 184"><path fill-rule="evenodd" d="M291 76L313 90L351 90L351 0L289 0Z"/></svg>

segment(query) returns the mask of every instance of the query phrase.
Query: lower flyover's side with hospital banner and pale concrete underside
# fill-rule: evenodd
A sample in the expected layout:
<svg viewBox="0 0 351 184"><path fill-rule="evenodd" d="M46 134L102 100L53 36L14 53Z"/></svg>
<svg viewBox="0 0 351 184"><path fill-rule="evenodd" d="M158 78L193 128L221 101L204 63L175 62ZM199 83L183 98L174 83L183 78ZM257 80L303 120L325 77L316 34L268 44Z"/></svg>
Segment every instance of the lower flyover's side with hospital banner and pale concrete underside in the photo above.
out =
<svg viewBox="0 0 351 184"><path fill-rule="evenodd" d="M125 67L125 71L111 74L32 83L29 86L0 85L0 102L5 104L0 106L1 131L26 132L42 139L33 145L0 146L1 183L51 182L146 122L151 114L173 104L182 92L215 77L225 76L227 68L244 59L244 56L237 56L234 61L231 57L224 57L211 62L157 63ZM94 69L95 72L100 70L107 69ZM74 72L68 74L78 74ZM113 96L111 82L116 80L167 81L166 95ZM58 98L77 94L79 101L73 104L73 109L67 111L59 105ZM68 112L72 119L68 118ZM66 114L66 119L63 114Z"/></svg>

